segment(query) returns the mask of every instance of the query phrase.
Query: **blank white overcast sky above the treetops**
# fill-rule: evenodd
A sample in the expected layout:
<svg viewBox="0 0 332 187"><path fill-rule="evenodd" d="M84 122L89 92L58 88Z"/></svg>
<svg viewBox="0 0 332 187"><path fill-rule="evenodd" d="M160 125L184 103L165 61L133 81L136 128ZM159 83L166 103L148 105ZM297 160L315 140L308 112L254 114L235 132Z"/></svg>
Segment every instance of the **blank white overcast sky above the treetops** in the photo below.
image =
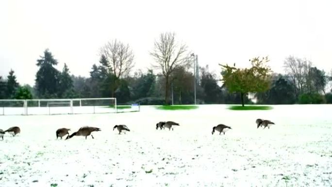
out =
<svg viewBox="0 0 332 187"><path fill-rule="evenodd" d="M108 40L129 43L136 69L150 67L149 51L162 32L218 63L249 66L269 55L283 72L288 55L332 69L332 0L0 0L0 75L12 68L20 84L34 85L36 60L49 48L62 70L89 76Z"/></svg>

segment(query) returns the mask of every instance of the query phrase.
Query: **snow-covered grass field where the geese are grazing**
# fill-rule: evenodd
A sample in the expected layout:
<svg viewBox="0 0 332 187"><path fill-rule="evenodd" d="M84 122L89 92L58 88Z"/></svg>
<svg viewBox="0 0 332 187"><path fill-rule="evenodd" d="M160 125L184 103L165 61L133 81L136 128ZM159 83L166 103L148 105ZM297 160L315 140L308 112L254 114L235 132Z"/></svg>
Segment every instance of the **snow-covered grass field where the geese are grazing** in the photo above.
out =
<svg viewBox="0 0 332 187"><path fill-rule="evenodd" d="M141 106L141 112L0 116L21 134L0 140L0 187L318 187L332 186L332 105L279 105L231 111ZM276 125L257 129L257 118ZM180 123L156 130L158 121ZM211 135L219 123L226 135ZM131 132L117 135L116 124ZM95 126L87 140L56 140L58 128ZM66 136L65 136L66 137Z"/></svg>

